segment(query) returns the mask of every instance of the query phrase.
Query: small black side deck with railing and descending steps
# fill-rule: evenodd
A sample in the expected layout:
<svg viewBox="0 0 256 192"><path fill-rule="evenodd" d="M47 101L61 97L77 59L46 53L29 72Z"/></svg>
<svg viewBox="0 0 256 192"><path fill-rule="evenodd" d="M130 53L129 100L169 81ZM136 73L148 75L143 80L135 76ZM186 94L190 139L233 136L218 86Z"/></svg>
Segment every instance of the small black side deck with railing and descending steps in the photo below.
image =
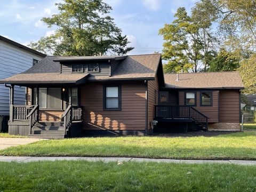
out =
<svg viewBox="0 0 256 192"><path fill-rule="evenodd" d="M154 120L158 123L193 123L199 129L208 130L208 117L191 106L155 105Z"/></svg>

